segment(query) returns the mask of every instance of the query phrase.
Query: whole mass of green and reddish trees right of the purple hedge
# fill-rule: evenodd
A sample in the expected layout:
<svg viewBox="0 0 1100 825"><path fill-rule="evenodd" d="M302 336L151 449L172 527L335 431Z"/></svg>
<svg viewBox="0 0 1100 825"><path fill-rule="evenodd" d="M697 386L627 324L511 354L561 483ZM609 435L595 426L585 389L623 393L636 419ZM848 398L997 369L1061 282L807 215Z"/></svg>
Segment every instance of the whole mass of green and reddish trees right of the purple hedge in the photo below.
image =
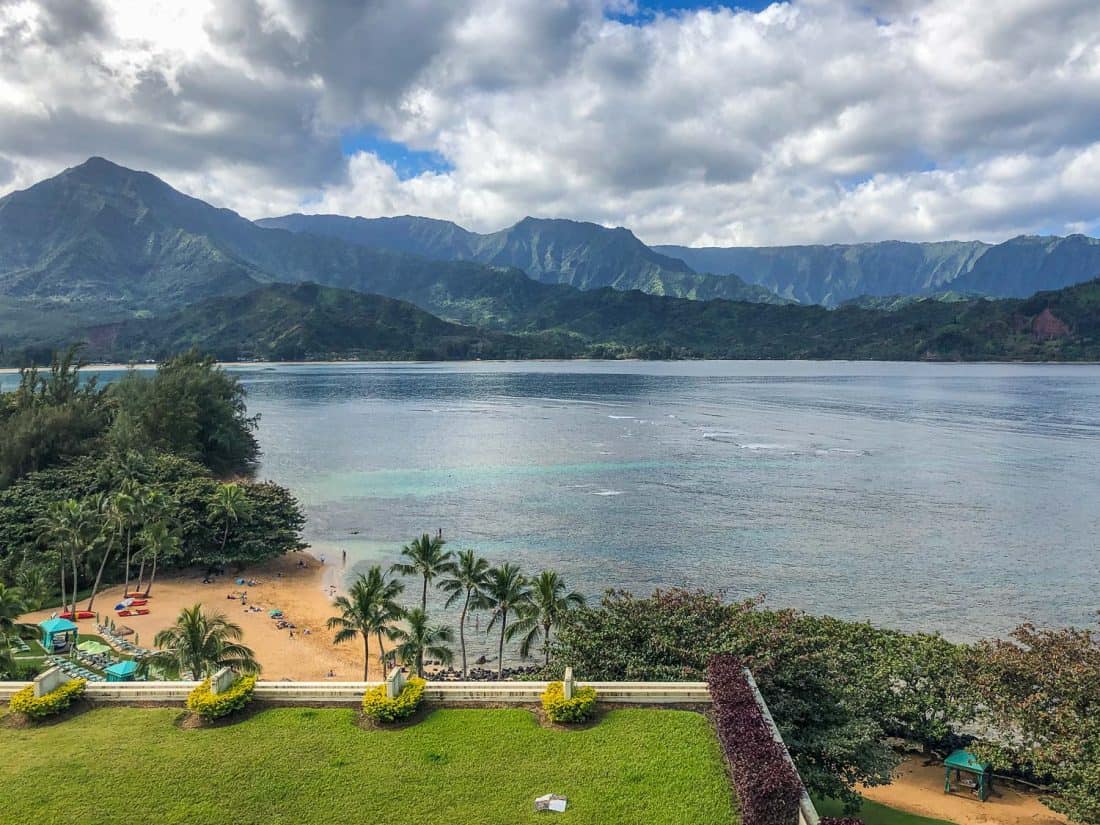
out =
<svg viewBox="0 0 1100 825"><path fill-rule="evenodd" d="M1007 641L957 645L867 624L724 604L704 593L608 593L572 612L554 668L587 680L696 680L707 657L752 671L806 788L849 807L855 784L886 782L889 736L946 755L971 747L1001 770L1049 783L1048 804L1100 822L1100 638L1023 626Z"/></svg>

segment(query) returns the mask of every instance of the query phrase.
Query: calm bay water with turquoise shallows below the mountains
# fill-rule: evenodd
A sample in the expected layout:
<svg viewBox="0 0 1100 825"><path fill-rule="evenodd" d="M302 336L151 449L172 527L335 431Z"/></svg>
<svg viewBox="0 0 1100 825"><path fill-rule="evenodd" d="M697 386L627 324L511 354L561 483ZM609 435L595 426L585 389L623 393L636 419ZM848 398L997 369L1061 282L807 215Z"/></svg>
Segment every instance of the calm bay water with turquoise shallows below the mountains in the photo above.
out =
<svg viewBox="0 0 1100 825"><path fill-rule="evenodd" d="M954 638L1100 608L1098 366L233 369L261 475L352 571L442 528L592 595L766 593Z"/></svg>

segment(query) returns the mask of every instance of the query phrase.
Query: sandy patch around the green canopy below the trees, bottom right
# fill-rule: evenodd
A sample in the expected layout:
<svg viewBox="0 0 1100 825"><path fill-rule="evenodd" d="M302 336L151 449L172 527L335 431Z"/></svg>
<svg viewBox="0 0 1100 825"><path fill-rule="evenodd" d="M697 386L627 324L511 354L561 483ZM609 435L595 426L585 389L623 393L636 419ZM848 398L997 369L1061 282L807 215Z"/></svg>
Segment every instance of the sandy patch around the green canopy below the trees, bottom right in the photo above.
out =
<svg viewBox="0 0 1100 825"><path fill-rule="evenodd" d="M977 796L944 793L943 767L925 767L923 761L906 759L899 766L893 783L865 788L861 793L890 807L958 825L1063 825L1068 822L1034 794L1020 793L1005 785L996 785L997 793L986 802L979 802Z"/></svg>

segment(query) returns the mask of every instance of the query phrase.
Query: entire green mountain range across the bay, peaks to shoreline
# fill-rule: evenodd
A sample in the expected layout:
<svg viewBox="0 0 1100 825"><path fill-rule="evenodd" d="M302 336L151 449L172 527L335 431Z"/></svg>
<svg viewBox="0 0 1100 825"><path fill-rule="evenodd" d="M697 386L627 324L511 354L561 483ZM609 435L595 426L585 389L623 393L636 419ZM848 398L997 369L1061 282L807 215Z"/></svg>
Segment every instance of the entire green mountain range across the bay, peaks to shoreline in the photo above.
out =
<svg viewBox="0 0 1100 825"><path fill-rule="evenodd" d="M768 286L782 296L692 270L721 270L730 250L675 251L625 229L532 218L485 235L413 217L253 222L91 158L0 198L0 358L42 361L72 340L102 359L190 346L226 359L1100 354L1094 283L979 297L1087 279L1100 243L1084 237L738 258L770 261ZM789 270L800 286L780 276ZM728 295L714 297L723 284ZM906 284L901 298L866 297ZM865 297L835 310L792 302L848 293Z"/></svg>

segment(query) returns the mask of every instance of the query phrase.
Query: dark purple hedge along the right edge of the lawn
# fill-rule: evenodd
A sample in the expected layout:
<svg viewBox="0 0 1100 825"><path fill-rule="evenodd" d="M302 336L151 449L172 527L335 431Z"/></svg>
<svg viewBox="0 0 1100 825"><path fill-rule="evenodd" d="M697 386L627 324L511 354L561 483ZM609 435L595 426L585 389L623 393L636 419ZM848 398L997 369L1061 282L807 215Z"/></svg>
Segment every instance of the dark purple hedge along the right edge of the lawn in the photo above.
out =
<svg viewBox="0 0 1100 825"><path fill-rule="evenodd" d="M711 658L706 682L714 700L718 741L734 773L743 825L792 825L799 821L802 780L728 653Z"/></svg>

